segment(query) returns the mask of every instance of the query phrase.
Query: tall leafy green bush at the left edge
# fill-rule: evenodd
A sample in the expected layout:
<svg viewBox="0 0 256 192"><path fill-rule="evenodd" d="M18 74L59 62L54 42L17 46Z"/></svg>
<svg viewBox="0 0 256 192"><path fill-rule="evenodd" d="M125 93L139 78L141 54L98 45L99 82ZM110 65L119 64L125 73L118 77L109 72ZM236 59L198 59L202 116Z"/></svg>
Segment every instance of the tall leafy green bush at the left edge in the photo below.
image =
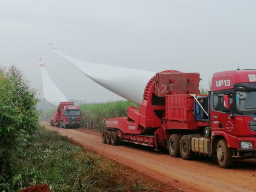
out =
<svg viewBox="0 0 256 192"><path fill-rule="evenodd" d="M40 128L38 99L17 67L0 67L0 183L22 163L23 148Z"/></svg>

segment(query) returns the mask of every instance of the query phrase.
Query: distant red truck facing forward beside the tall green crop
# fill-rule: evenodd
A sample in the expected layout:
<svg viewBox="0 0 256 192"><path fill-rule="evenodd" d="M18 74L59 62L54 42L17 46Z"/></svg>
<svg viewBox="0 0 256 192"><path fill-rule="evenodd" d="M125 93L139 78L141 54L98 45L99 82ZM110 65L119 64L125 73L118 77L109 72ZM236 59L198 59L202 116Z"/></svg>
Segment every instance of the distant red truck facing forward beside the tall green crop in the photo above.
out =
<svg viewBox="0 0 256 192"><path fill-rule="evenodd" d="M76 127L81 124L81 111L74 102L60 102L54 115L51 117L50 125L61 128Z"/></svg>

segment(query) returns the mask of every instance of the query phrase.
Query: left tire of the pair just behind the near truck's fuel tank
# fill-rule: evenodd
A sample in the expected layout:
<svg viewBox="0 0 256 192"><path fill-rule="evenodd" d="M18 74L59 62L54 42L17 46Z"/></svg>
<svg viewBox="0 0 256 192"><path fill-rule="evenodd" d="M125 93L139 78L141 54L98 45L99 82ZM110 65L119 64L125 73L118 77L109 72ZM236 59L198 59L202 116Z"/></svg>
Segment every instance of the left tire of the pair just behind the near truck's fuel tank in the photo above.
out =
<svg viewBox="0 0 256 192"><path fill-rule="evenodd" d="M180 136L172 134L168 141L169 153L172 157L180 157Z"/></svg>

